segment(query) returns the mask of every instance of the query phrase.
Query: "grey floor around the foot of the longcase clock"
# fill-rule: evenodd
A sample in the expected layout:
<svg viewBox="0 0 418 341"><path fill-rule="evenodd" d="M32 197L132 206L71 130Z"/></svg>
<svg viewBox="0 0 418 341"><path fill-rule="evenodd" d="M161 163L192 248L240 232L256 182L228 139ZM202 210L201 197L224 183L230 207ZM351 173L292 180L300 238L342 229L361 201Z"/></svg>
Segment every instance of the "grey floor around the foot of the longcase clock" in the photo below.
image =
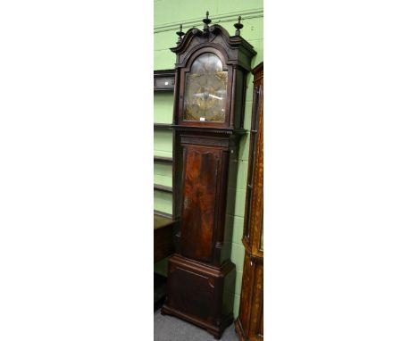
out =
<svg viewBox="0 0 418 341"><path fill-rule="evenodd" d="M154 341L214 341L205 329L172 316L163 316L160 309L154 312ZM222 341L238 341L234 324L225 329Z"/></svg>

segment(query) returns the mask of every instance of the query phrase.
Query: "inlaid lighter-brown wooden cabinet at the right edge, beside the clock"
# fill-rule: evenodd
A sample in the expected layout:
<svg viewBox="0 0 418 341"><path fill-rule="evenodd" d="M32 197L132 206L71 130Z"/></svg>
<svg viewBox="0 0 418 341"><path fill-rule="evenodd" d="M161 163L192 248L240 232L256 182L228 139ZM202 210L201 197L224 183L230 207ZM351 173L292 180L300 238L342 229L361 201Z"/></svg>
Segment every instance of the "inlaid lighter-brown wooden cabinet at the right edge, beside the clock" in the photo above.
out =
<svg viewBox="0 0 418 341"><path fill-rule="evenodd" d="M263 340L263 62L253 74L254 105L242 237L246 251L239 315L235 321L240 340Z"/></svg>

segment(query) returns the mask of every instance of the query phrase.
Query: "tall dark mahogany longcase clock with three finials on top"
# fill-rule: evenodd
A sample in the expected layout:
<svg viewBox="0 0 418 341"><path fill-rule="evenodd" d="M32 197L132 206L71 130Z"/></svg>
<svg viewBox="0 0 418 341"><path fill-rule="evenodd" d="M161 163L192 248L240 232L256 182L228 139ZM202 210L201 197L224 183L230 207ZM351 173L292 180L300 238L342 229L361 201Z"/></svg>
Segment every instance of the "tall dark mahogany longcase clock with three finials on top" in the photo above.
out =
<svg viewBox="0 0 418 341"><path fill-rule="evenodd" d="M235 264L230 262L239 137L247 73L255 55L235 24L230 36L206 18L204 29L181 31L173 114L173 217L180 220L169 259L163 314L206 329L214 337L233 321ZM184 37L183 37L184 36ZM232 190L228 190L232 188Z"/></svg>

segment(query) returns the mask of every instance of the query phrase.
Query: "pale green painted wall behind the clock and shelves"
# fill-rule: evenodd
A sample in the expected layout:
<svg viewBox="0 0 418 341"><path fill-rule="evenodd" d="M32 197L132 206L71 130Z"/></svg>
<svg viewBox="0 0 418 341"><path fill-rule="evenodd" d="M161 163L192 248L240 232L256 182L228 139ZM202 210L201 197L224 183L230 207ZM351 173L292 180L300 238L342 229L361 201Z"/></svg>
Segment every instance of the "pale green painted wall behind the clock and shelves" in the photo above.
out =
<svg viewBox="0 0 418 341"><path fill-rule="evenodd" d="M254 46L257 55L253 59L254 67L263 62L263 1L260 0L155 0L154 2L154 70L173 69L175 54L170 47L176 46L180 23L183 31L197 27L202 29L202 19L205 12L209 11L209 17L213 23L220 23L233 35L238 15L242 17L244 28L241 36ZM250 129L252 108L253 77L247 79L247 102L245 111L244 128ZM154 121L155 123L171 123L172 121L172 94L155 93L154 95ZM156 131L154 134L154 154L159 156L171 156L171 132L169 130ZM242 268L244 261L244 246L241 237L244 224L247 168L248 168L248 143L249 138L241 139L238 152L238 181L236 188L235 207L227 210L227 223L233 226L230 237L232 243L231 260L237 266L237 279L234 295L234 315L238 316L239 295L241 293ZM161 185L171 185L171 167L164 164L154 166L154 181ZM155 210L171 213L171 196L156 192L154 194ZM227 240L226 240L227 241ZM155 271L166 272L166 260L155 264Z"/></svg>

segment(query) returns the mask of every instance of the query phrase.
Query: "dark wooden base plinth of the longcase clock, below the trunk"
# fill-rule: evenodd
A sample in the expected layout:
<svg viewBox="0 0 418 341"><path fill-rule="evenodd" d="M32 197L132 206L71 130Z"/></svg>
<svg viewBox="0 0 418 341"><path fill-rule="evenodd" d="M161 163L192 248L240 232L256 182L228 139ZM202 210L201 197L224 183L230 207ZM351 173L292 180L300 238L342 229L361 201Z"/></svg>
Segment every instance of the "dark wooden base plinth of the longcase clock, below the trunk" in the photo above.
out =
<svg viewBox="0 0 418 341"><path fill-rule="evenodd" d="M186 320L220 338L233 322L234 286L232 262L217 268L176 254L169 259L167 298L161 313Z"/></svg>

